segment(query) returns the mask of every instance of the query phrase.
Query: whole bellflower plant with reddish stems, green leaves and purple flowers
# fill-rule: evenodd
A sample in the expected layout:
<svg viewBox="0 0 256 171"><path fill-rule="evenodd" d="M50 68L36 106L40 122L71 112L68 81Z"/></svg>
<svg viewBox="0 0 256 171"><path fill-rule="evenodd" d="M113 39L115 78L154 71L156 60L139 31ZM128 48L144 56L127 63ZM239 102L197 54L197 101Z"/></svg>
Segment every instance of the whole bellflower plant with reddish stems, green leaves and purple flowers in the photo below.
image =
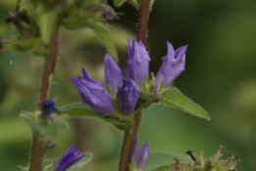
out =
<svg viewBox="0 0 256 171"><path fill-rule="evenodd" d="M174 86L174 81L185 69L188 45L175 49L170 42L167 42L167 54L162 58L162 64L156 76L150 73L151 59L149 50L146 48L146 39L149 13L154 0L114 0L114 5L120 7L126 2L137 10L139 17L137 39L128 39L128 62L123 72L118 65L117 50L112 41L113 37L109 33L111 27L108 26L108 21L119 19L122 13L116 13L106 1L18 0L16 11L6 19L6 23L12 24L15 28L17 35L3 39L0 37L0 56L2 49L11 49L30 52L44 58L37 107L35 111L21 114L21 117L30 125L32 144L29 164L27 167L20 168L24 171L87 170L86 164L92 159L92 152L84 153L84 149L78 150L80 148L75 144L66 152L62 152L64 154L59 159L46 158L44 154L56 147L58 149L57 145L65 143L60 139L60 135L63 130L71 127L68 124L70 118L77 118L76 124L72 126L76 128L74 130L78 138L83 136L86 138L81 130L84 126L80 125L81 117L96 117L113 124L122 132L120 135L124 135L122 148L120 147L121 150L119 150L120 158L116 159L119 161L119 171L236 170L238 159L232 156L228 160L220 159L221 150L207 160L203 155L197 157L192 152L188 152L189 156L183 157L184 163L180 163L179 158L173 154L152 152L149 142L145 142L138 150L139 126L145 108L164 105L207 120L211 118L205 109L185 97ZM106 47L107 53L104 60L102 59L105 65L106 84L93 80L86 72L88 68L82 67L82 76L71 77L81 97L80 100L77 96L77 101L81 102L55 107L55 102L51 100L51 85L58 62L57 57L61 54L58 50L62 47L60 45L65 44L61 41L65 39L67 32L81 29L93 31ZM74 63L74 61L68 62ZM65 70L65 68L60 69ZM77 68L72 68L72 70L75 69ZM66 77L70 76L66 75ZM69 89L75 89L75 87L69 87ZM83 144L80 139L77 141L79 143L77 145ZM104 171L108 171L108 168Z"/></svg>

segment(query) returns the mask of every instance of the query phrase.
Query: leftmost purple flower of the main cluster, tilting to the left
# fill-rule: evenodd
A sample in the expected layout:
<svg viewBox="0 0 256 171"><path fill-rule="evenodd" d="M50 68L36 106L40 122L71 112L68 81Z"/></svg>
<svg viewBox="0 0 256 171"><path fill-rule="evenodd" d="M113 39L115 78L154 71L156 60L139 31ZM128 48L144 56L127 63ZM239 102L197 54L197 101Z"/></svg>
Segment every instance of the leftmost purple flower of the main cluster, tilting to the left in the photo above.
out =
<svg viewBox="0 0 256 171"><path fill-rule="evenodd" d="M93 107L98 112L103 114L113 113L115 107L111 95L105 90L101 81L91 79L84 68L81 69L83 76L71 79L77 85L77 90L80 93L82 102Z"/></svg>

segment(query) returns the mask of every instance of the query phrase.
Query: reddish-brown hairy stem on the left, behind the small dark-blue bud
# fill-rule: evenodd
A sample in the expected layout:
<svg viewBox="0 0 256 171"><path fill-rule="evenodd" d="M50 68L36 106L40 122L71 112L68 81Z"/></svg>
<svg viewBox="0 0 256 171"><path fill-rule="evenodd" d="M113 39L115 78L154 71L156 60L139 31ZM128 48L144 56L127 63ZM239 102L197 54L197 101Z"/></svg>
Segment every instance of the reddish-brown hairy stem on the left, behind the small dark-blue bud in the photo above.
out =
<svg viewBox="0 0 256 171"><path fill-rule="evenodd" d="M41 82L40 97L37 109L42 109L42 102L45 99L49 98L51 91L52 77L54 74L54 68L57 59L58 52L58 26L56 25L53 29L52 37L49 42L49 55L45 59L43 76ZM47 119L43 114L40 115L40 119ZM31 149L31 158L30 158L30 167L29 171L41 171L42 170L42 150L43 150L43 138L36 136L32 133L32 149Z"/></svg>

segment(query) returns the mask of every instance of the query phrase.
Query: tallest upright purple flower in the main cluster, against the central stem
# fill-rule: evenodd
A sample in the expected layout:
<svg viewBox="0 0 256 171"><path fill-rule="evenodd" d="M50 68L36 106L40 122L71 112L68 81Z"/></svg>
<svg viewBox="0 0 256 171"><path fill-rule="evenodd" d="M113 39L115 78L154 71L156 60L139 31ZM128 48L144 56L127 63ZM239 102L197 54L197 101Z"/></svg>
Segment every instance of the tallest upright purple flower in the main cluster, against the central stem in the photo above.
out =
<svg viewBox="0 0 256 171"><path fill-rule="evenodd" d="M126 68L127 78L131 78L137 85L144 82L148 74L149 55L145 46L139 40L128 39L128 65Z"/></svg>

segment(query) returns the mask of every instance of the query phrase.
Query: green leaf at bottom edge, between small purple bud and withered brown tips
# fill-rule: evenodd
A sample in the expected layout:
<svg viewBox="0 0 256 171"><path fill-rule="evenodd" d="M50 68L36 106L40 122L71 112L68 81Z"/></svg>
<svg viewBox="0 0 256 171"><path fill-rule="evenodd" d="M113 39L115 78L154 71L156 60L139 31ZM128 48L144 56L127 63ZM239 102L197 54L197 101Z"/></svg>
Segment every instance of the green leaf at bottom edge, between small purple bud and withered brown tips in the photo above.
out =
<svg viewBox="0 0 256 171"><path fill-rule="evenodd" d="M189 163L188 156L180 156L166 152L151 152L147 161L145 171L157 171L165 170L165 166L175 164L175 158L179 158L179 162L182 164ZM170 167L169 167L170 170Z"/></svg>

